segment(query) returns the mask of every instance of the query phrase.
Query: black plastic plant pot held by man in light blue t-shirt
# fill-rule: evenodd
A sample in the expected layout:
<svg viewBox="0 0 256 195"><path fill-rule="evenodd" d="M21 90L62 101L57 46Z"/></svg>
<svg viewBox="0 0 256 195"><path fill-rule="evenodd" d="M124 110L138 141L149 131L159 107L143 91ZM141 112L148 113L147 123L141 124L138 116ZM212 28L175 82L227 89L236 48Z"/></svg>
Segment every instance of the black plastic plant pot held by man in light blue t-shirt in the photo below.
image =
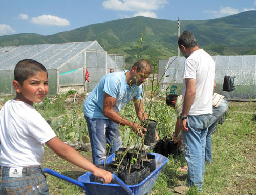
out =
<svg viewBox="0 0 256 195"><path fill-rule="evenodd" d="M156 144L156 128L157 128L157 121L152 119L146 119L143 122L143 127L147 129L145 133L145 140L144 144L149 146L155 146Z"/></svg>

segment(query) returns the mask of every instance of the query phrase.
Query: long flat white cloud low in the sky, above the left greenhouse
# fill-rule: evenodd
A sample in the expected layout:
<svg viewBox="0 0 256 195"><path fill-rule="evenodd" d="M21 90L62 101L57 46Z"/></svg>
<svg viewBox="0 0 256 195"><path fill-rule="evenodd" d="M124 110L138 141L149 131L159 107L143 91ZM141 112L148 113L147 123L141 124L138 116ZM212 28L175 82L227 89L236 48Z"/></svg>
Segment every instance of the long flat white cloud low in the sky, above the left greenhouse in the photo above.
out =
<svg viewBox="0 0 256 195"><path fill-rule="evenodd" d="M50 26L68 26L70 25L67 19L62 19L54 15L40 15L38 17L32 17L31 23L37 25L50 25Z"/></svg>

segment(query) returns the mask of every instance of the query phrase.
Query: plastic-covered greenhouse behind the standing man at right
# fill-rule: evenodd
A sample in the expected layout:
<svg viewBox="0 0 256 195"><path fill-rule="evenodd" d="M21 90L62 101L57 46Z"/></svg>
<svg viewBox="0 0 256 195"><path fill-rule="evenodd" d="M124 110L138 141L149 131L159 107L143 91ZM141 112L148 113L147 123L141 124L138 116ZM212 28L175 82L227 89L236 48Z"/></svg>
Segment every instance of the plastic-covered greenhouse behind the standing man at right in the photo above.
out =
<svg viewBox="0 0 256 195"><path fill-rule="evenodd" d="M212 56L216 64L215 82L216 92L229 99L255 99L256 98L256 55L248 56ZM161 91L170 85L176 85L177 94L182 93L183 68L185 57L171 57L168 62L159 60L159 75ZM161 66L160 66L161 65ZM236 77L236 89L232 92L222 91L224 76Z"/></svg>

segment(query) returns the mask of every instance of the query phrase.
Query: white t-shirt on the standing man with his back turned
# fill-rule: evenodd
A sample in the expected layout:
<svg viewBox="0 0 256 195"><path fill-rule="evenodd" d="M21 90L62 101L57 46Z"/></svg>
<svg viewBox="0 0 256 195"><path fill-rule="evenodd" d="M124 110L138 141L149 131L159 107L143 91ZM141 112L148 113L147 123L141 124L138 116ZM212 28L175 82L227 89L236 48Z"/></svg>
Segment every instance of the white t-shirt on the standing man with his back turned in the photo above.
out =
<svg viewBox="0 0 256 195"><path fill-rule="evenodd" d="M188 115L212 114L212 91L214 89L215 62L203 49L190 54L183 72L183 97L185 79L196 79L196 94Z"/></svg>

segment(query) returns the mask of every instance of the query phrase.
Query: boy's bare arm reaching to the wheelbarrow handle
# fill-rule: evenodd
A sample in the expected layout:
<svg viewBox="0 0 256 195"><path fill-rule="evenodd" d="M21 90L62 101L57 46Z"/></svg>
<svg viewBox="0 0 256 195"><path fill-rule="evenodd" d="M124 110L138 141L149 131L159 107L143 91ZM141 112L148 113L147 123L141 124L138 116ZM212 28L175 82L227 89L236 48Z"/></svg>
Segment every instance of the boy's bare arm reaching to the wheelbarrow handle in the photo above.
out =
<svg viewBox="0 0 256 195"><path fill-rule="evenodd" d="M112 174L106 170L96 167L93 163L81 156L75 149L62 142L59 138L54 137L45 143L62 159L65 159L72 164L92 172L97 178L103 178L105 184L112 180Z"/></svg>

